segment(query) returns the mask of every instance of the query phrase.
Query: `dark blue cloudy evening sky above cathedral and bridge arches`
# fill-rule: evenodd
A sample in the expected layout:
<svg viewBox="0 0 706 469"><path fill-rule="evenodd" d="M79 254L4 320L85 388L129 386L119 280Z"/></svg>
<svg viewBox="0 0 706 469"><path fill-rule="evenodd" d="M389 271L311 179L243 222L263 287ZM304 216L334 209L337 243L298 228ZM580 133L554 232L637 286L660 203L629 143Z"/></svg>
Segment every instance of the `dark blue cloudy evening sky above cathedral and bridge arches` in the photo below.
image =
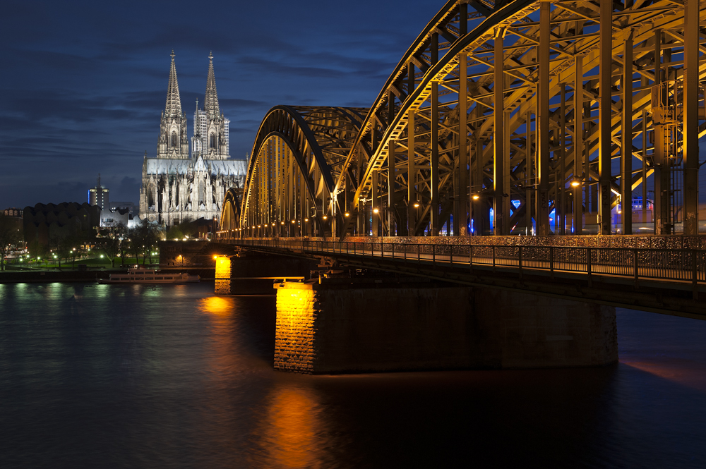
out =
<svg viewBox="0 0 706 469"><path fill-rule="evenodd" d="M0 16L0 208L139 202L172 49L193 133L213 51L230 154L280 104L370 106L443 0L5 1Z"/></svg>

